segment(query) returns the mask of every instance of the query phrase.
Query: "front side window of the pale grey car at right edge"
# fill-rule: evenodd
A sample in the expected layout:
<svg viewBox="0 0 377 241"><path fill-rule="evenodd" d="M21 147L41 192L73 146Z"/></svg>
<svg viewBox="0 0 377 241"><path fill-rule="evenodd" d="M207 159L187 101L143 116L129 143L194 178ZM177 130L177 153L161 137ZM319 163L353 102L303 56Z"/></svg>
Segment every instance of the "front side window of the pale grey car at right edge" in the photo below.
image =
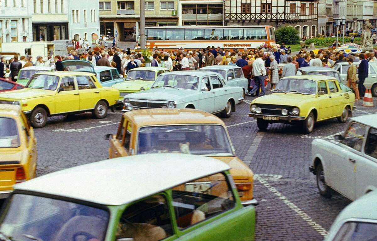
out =
<svg viewBox="0 0 377 241"><path fill-rule="evenodd" d="M354 122L348 128L348 131L341 142L344 145L355 149L356 151L361 151L361 147L365 139L365 128L365 125Z"/></svg>

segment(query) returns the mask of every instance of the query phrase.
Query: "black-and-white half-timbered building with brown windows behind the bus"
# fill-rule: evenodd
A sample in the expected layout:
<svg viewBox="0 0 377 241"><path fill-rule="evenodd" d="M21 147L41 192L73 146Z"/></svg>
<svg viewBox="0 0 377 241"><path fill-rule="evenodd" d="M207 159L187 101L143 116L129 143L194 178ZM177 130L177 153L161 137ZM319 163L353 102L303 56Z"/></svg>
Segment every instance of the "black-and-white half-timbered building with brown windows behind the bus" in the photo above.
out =
<svg viewBox="0 0 377 241"><path fill-rule="evenodd" d="M225 0L224 25L291 26L300 37L315 37L317 3L317 0Z"/></svg>

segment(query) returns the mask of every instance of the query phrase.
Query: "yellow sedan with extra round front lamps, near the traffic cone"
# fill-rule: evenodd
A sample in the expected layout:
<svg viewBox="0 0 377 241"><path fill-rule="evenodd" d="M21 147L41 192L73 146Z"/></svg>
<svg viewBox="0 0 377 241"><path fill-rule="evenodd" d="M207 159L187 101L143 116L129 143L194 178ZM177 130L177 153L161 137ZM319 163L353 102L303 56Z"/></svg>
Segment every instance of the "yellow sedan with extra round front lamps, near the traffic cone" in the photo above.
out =
<svg viewBox="0 0 377 241"><path fill-rule="evenodd" d="M272 123L300 124L311 133L314 123L337 118L340 123L352 116L355 94L343 92L334 77L296 75L279 80L271 95L254 99L249 116L260 130Z"/></svg>

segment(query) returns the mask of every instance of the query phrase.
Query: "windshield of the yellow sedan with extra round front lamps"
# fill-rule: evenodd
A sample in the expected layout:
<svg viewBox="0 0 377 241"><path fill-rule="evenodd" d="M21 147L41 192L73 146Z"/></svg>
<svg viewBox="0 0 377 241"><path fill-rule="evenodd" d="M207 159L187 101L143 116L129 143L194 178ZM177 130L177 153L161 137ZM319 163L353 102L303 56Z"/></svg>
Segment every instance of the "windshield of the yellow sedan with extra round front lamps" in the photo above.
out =
<svg viewBox="0 0 377 241"><path fill-rule="evenodd" d="M310 79L280 79L274 90L276 92L316 95L317 82Z"/></svg>

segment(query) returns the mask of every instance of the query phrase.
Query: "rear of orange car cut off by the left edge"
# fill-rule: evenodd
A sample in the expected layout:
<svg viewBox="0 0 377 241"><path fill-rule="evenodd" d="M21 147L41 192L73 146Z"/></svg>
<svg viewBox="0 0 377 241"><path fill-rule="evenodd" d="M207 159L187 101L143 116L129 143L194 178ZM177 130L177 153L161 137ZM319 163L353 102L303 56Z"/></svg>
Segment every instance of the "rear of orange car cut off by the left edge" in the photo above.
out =
<svg viewBox="0 0 377 241"><path fill-rule="evenodd" d="M37 139L19 105L0 104L0 199L35 177Z"/></svg>

